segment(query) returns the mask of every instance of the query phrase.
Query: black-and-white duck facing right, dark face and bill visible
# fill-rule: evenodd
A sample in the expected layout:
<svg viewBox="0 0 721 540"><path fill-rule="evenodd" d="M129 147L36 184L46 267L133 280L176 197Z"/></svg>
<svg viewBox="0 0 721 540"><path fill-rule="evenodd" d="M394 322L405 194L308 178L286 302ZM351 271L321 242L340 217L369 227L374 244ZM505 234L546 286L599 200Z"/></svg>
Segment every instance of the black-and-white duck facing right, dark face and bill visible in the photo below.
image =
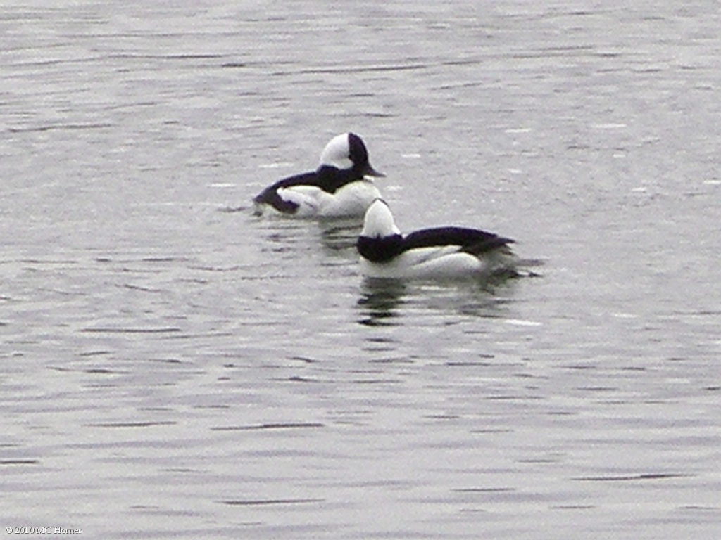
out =
<svg viewBox="0 0 721 540"><path fill-rule="evenodd" d="M385 176L368 161L368 149L355 133L332 138L315 171L275 182L253 199L255 215L265 212L288 217L363 217L381 197L369 176Z"/></svg>

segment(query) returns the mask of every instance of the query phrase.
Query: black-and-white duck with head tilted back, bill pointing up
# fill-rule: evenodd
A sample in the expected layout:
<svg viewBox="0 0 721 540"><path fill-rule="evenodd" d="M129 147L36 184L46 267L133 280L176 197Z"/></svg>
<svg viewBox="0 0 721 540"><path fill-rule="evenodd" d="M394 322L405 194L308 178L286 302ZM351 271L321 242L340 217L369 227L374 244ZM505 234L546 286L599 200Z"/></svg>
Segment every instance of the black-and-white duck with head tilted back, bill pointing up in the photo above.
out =
<svg viewBox="0 0 721 540"><path fill-rule="evenodd" d="M513 240L483 230L436 227L402 235L383 199L366 210L356 244L371 278L462 279L513 275Z"/></svg>

